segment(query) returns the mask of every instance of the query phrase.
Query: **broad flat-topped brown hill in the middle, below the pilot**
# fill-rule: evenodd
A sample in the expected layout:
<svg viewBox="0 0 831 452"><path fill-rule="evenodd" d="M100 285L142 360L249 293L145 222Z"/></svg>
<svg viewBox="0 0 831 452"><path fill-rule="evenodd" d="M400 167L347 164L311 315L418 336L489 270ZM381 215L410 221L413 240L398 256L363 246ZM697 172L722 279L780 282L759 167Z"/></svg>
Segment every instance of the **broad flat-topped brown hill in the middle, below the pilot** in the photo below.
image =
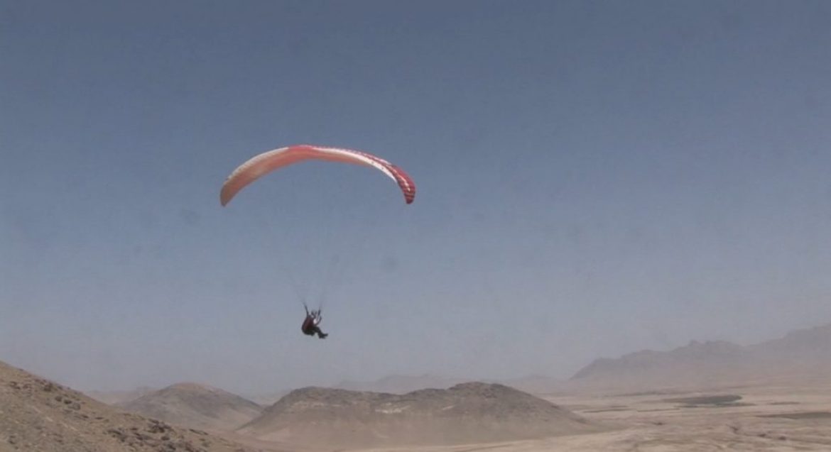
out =
<svg viewBox="0 0 831 452"><path fill-rule="evenodd" d="M451 445L601 430L508 386L479 382L404 395L307 387L238 429L260 440L330 447Z"/></svg>

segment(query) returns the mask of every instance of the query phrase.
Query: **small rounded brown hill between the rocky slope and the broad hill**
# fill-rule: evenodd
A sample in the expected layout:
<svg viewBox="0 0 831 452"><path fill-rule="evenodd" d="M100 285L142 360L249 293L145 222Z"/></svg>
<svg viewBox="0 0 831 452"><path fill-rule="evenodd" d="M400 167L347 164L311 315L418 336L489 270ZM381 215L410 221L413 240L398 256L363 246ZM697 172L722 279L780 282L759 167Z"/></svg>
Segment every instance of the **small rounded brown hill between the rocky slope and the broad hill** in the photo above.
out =
<svg viewBox="0 0 831 452"><path fill-rule="evenodd" d="M125 410L196 429L234 430L263 407L218 388L178 383L119 404Z"/></svg>

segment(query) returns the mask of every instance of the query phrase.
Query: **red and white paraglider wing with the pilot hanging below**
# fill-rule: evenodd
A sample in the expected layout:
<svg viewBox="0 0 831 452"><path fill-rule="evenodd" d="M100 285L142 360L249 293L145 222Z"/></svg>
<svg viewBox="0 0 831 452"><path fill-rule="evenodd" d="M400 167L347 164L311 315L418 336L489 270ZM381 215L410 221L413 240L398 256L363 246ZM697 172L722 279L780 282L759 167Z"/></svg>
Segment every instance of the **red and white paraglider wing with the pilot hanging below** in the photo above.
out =
<svg viewBox="0 0 831 452"><path fill-rule="evenodd" d="M375 168L398 184L401 193L404 195L406 204L412 204L416 198L416 184L411 177L398 166L376 155L371 155L360 150L328 146L291 145L255 155L242 165L239 165L225 179L222 189L219 192L219 203L225 206L231 199L234 199L234 196L240 190L248 186L248 184L252 184L255 180L274 170L279 170L288 165L306 160L324 160ZM303 303L303 307L306 309L306 318L303 320L301 327L303 334L311 337L317 334L317 337L320 339L326 338L328 334L322 332L320 327L318 327L322 321L321 309L318 308L317 310L309 312L305 302Z"/></svg>

